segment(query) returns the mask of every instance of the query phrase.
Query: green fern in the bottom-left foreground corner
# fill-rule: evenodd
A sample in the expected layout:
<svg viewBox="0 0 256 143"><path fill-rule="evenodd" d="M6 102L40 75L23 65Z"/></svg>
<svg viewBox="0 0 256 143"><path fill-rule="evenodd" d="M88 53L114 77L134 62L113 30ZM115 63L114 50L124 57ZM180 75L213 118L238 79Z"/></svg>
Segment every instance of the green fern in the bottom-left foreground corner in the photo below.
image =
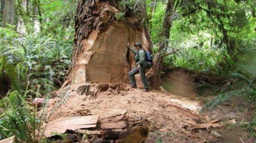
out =
<svg viewBox="0 0 256 143"><path fill-rule="evenodd" d="M16 78L13 77L12 92L8 98L5 98L5 110L0 116L0 139L15 135L19 140L28 142L37 142L38 133L42 124L41 120L37 117L37 108L27 102L29 91L24 90L24 78L27 76L20 64L16 65ZM51 73L50 79L51 79ZM48 86L47 92L51 91ZM49 97L48 97L49 98Z"/></svg>

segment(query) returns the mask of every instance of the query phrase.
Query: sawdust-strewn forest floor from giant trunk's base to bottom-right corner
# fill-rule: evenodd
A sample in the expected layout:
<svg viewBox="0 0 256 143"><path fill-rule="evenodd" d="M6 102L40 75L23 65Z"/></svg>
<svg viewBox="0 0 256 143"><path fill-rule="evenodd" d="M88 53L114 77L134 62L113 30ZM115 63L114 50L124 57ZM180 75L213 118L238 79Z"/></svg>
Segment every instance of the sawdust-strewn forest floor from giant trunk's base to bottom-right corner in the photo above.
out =
<svg viewBox="0 0 256 143"><path fill-rule="evenodd" d="M170 76L174 78L177 74ZM169 79L169 78L168 78ZM174 84L174 82L170 82ZM127 110L126 116L130 122L143 121L150 127L150 136L146 142L254 142L248 138L248 132L240 124L249 122L255 117L253 106L243 99L232 99L216 109L199 114L206 98L196 96L192 86L175 83L176 90L142 92L141 89L111 90L100 92L94 97L79 95L76 90L69 93L67 103L61 105L50 120L59 117L74 117L86 115L101 115L106 111ZM79 85L77 85L79 87ZM179 94L177 89L182 93ZM174 94L175 93L175 94ZM207 92L206 92L207 93ZM205 93L205 94L206 94ZM50 110L60 97L50 99ZM234 102L236 101L236 102ZM220 119L226 122L235 119L237 124L209 129L193 130L188 123L205 123L206 119Z"/></svg>

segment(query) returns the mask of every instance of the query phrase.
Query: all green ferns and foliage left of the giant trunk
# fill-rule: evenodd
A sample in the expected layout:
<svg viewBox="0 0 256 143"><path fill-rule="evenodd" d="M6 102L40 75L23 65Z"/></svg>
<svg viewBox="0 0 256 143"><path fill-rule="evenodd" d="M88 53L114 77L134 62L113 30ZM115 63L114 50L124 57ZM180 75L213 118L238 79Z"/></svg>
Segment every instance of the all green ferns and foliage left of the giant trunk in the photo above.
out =
<svg viewBox="0 0 256 143"><path fill-rule="evenodd" d="M19 3L16 14L24 18L27 34L17 34L12 25L0 27L0 81L5 81L0 90L11 85L0 95L0 140L16 135L19 141L39 142L36 130L49 120L50 92L60 87L71 63L76 1L40 1L41 16L33 15L30 7L24 11ZM41 33L34 35L32 18L46 19L40 23ZM45 100L40 112L28 102L35 97Z"/></svg>

